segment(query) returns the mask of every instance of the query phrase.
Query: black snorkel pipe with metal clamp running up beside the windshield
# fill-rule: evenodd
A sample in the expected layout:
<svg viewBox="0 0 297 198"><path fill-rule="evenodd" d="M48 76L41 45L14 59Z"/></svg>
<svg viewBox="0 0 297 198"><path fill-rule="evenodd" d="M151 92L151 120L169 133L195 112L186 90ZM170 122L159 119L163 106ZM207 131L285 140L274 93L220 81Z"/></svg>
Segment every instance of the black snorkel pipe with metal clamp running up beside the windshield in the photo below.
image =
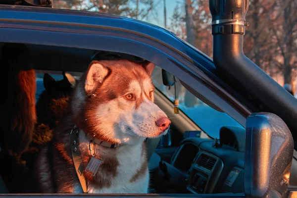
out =
<svg viewBox="0 0 297 198"><path fill-rule="evenodd" d="M297 140L297 99L245 56L248 0L209 0L212 15L213 61L229 86L259 111L281 117Z"/></svg>

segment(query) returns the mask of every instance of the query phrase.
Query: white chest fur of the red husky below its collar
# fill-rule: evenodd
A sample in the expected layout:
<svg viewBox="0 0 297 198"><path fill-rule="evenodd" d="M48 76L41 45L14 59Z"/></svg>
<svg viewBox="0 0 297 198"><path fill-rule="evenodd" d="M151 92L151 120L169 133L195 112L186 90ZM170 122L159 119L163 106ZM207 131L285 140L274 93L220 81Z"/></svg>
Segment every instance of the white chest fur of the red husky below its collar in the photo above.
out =
<svg viewBox="0 0 297 198"><path fill-rule="evenodd" d="M88 142L88 140L81 136L80 142ZM149 173L139 177L136 181L131 182L131 178L138 173L144 160L147 160L146 155L142 155L142 141L133 146L121 146L118 148L116 154L119 165L117 167L117 175L111 180L109 188L95 188L92 184L88 185L88 193L98 194L117 194L117 193L148 193ZM104 161L104 159L103 159ZM100 174L100 172L97 172Z"/></svg>

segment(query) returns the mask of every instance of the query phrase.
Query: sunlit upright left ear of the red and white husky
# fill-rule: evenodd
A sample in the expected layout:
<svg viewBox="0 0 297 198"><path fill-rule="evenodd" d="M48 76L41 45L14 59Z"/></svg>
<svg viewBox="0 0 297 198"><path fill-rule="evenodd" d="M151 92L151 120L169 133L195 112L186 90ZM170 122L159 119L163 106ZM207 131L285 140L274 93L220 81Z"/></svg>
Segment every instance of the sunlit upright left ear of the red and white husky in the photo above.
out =
<svg viewBox="0 0 297 198"><path fill-rule="evenodd" d="M99 61L93 60L89 64L86 82L85 82L85 91L86 94L91 94L96 90L96 88L103 82L105 77L108 75L109 69L102 65Z"/></svg>

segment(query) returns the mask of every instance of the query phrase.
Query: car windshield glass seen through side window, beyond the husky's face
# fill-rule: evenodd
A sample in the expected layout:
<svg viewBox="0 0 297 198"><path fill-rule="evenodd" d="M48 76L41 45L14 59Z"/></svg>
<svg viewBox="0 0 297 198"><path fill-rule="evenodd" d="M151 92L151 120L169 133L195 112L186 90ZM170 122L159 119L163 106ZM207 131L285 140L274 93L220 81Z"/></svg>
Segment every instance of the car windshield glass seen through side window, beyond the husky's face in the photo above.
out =
<svg viewBox="0 0 297 198"><path fill-rule="evenodd" d="M160 67L155 67L152 75L154 86L172 102L179 100L179 108L200 129L202 129L211 138L219 139L219 132L223 126L237 126L243 128L238 122L224 112L219 112L208 106L192 93L190 93L176 78L176 88L164 86L162 83L162 72ZM176 94L174 93L176 90Z"/></svg>

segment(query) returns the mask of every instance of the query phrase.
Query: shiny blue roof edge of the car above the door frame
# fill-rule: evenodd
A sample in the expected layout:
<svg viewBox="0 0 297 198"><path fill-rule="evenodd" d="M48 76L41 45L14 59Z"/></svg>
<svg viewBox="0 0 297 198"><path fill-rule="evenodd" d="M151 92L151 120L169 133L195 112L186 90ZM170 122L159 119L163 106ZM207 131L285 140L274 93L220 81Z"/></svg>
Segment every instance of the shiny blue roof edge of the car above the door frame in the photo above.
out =
<svg viewBox="0 0 297 198"><path fill-rule="evenodd" d="M98 27L109 30L112 30L113 28L120 28L125 32L147 35L148 37L164 42L175 41L183 43L186 47L195 50L195 52L198 52L209 61L212 61L210 57L177 37L172 31L145 21L114 14L49 7L0 4L0 22L5 21L15 23L38 23L39 21L40 23L58 24L63 28L69 28L69 26L84 28ZM174 45L174 43L170 44Z"/></svg>

